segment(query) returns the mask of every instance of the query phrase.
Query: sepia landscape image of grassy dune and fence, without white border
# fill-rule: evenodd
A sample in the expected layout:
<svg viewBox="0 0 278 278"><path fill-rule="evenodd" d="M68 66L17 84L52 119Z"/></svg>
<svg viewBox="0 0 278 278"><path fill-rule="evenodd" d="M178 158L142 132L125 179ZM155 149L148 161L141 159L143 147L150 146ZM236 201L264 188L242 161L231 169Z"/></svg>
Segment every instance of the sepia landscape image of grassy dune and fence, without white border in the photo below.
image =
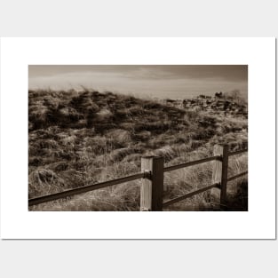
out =
<svg viewBox="0 0 278 278"><path fill-rule="evenodd" d="M28 210L248 210L247 65L29 65Z"/></svg>

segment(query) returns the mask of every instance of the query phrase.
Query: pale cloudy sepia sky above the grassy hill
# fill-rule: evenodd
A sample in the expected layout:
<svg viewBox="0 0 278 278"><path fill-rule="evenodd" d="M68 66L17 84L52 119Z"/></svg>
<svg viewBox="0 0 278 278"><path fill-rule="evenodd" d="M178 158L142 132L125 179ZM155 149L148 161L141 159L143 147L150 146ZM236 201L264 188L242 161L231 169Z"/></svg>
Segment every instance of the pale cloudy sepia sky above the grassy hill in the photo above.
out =
<svg viewBox="0 0 278 278"><path fill-rule="evenodd" d="M184 99L217 91L248 91L246 65L29 66L29 89L79 89Z"/></svg>

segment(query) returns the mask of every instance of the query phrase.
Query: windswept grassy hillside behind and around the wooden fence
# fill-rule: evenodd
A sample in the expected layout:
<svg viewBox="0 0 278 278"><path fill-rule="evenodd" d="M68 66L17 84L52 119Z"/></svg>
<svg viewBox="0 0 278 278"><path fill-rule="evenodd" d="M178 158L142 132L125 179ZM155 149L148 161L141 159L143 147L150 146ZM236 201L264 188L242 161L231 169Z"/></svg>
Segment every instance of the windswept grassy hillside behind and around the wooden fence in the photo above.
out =
<svg viewBox="0 0 278 278"><path fill-rule="evenodd" d="M174 165L210 156L219 142L231 150L247 143L247 119L240 116L89 90L29 91L28 98L29 198L139 172L143 155L163 155ZM229 167L231 175L245 170L247 156ZM210 184L210 177L210 163L165 173L164 198ZM240 184L228 188L231 195ZM206 193L196 195L169 210L209 210L206 200ZM31 210L139 210L139 181Z"/></svg>

